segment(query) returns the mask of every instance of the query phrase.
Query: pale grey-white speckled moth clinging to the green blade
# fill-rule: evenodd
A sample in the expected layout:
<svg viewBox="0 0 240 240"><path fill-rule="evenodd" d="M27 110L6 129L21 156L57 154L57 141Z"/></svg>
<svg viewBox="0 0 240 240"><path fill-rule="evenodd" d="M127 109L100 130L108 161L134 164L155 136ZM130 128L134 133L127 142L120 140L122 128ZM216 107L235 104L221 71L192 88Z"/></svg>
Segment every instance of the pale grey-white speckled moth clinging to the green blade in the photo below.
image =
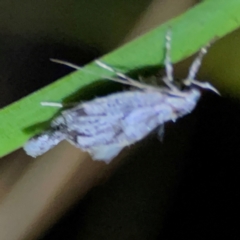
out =
<svg viewBox="0 0 240 240"><path fill-rule="evenodd" d="M94 160L110 162L124 147L143 139L164 123L190 113L201 96L199 88L218 93L209 83L195 80L208 47L201 48L190 66L187 78L182 80L183 90L177 87L173 78L170 31L166 34L166 76L162 78L166 87L135 81L107 64L96 61L100 67L116 74L116 78L109 79L130 85L134 90L113 93L63 111L52 121L50 130L30 139L24 150L36 157L62 140L67 140L88 152Z"/></svg>

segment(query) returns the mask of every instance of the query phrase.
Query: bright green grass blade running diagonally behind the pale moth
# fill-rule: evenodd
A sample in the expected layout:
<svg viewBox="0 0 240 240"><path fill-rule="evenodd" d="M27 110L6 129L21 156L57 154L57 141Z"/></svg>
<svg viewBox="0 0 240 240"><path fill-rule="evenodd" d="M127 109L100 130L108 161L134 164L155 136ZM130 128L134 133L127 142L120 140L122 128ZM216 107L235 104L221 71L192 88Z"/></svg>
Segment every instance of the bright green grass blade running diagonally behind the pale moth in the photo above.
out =
<svg viewBox="0 0 240 240"><path fill-rule="evenodd" d="M222 37L238 28L239 13L239 0L203 1L183 15L104 56L102 61L124 69L123 72L160 66L163 62L166 30L171 27L172 60L177 62L192 55L213 38ZM46 121L59 111L56 108L42 107L40 102L66 101L80 89L80 93L84 92L83 88L86 89L85 86L92 83L95 83L94 94L102 86L101 81L97 80L103 75L109 73L91 63L84 70L76 71L3 108L0 111L0 156L20 148L30 137L43 131Z"/></svg>

